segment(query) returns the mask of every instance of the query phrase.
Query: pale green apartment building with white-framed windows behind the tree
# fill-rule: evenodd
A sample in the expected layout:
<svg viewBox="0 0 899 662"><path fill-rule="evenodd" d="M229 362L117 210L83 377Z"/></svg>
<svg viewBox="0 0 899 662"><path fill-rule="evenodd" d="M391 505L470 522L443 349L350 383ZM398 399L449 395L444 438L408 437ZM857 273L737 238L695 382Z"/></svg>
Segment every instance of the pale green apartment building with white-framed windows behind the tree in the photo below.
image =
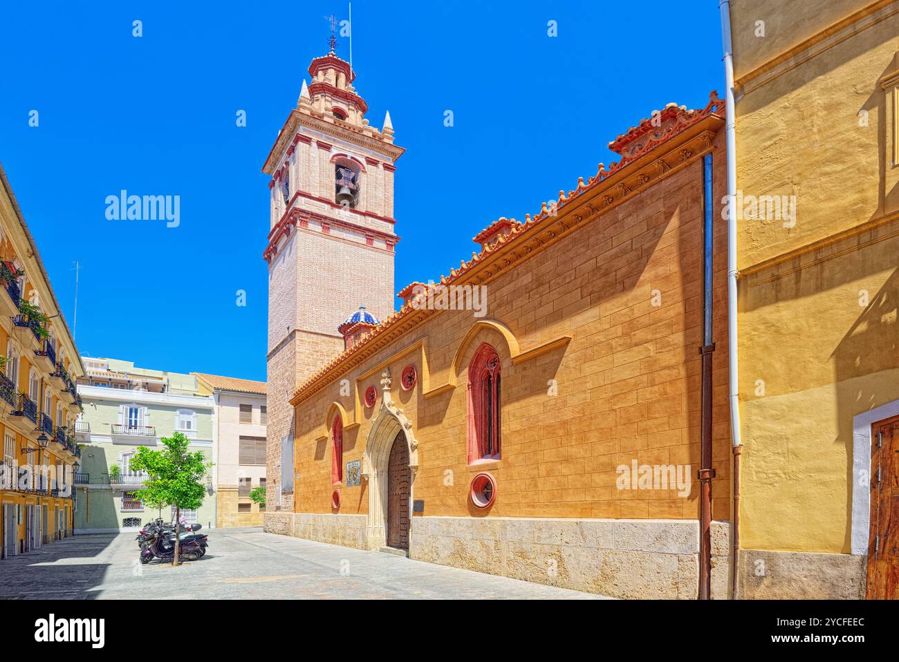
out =
<svg viewBox="0 0 899 662"><path fill-rule="evenodd" d="M170 509L145 508L133 492L147 476L131 470L140 446L156 447L162 437L182 432L191 451L215 462L215 402L200 392L197 377L140 368L130 361L82 357L85 375L77 384L84 413L76 422L82 467L76 475L76 533L137 529L149 519L171 519ZM211 474L200 508L182 510L189 523L216 524Z"/></svg>

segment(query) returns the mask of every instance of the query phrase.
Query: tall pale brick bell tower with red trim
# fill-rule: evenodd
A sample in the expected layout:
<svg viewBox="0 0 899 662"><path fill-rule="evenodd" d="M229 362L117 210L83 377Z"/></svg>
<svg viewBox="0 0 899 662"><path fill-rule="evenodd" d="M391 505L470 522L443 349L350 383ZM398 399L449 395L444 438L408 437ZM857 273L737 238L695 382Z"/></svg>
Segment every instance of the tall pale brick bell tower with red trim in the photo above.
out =
<svg viewBox="0 0 899 662"><path fill-rule="evenodd" d="M289 533L280 529L298 487L290 397L343 351L337 327L360 302L381 320L394 310L394 163L405 150L393 144L389 113L380 131L364 119L369 107L334 41L309 65L312 82L303 80L263 166L271 175L265 526L278 533Z"/></svg>

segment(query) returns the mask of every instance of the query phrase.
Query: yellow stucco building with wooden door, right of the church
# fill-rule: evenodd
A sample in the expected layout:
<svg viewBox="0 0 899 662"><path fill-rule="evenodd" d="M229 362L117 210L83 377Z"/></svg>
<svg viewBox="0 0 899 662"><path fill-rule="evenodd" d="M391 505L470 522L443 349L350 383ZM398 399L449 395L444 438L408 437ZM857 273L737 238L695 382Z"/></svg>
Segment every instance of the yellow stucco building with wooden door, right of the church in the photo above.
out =
<svg viewBox="0 0 899 662"><path fill-rule="evenodd" d="M896 597L899 3L730 18L739 595Z"/></svg>

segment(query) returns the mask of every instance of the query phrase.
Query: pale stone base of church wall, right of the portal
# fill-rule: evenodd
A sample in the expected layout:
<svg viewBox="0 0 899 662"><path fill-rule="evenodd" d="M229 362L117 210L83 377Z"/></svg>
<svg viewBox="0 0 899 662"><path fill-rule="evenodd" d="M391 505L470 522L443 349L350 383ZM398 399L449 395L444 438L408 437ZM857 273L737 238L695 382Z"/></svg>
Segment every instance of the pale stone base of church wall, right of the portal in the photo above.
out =
<svg viewBox="0 0 899 662"><path fill-rule="evenodd" d="M713 523L713 598L729 594L727 522ZM696 599L696 520L414 517L410 557L619 598Z"/></svg>

